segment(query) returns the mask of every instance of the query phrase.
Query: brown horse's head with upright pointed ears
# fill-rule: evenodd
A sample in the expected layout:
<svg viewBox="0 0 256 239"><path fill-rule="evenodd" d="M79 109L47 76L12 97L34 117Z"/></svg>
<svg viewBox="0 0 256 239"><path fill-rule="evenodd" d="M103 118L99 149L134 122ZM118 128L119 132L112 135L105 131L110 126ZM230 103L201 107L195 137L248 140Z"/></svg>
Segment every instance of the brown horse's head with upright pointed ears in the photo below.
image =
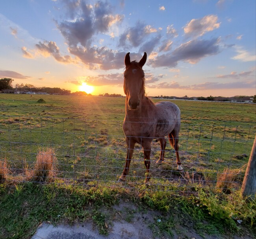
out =
<svg viewBox="0 0 256 239"><path fill-rule="evenodd" d="M140 104L140 99L145 94L144 89L144 71L142 66L146 63L147 53L144 52L143 57L139 62L130 61L130 52L126 54L125 72L124 72L124 94L128 99L128 107L131 110L136 110Z"/></svg>

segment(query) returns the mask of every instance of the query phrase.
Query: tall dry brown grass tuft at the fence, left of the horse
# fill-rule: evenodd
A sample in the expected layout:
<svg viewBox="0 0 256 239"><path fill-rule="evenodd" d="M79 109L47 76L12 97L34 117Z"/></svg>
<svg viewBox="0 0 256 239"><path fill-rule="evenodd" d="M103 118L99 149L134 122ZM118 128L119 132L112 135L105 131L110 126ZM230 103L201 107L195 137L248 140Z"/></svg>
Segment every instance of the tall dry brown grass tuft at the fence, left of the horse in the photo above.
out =
<svg viewBox="0 0 256 239"><path fill-rule="evenodd" d="M57 158L54 149L39 149L36 156L34 169L30 172L29 178L34 182L48 182L57 176Z"/></svg>

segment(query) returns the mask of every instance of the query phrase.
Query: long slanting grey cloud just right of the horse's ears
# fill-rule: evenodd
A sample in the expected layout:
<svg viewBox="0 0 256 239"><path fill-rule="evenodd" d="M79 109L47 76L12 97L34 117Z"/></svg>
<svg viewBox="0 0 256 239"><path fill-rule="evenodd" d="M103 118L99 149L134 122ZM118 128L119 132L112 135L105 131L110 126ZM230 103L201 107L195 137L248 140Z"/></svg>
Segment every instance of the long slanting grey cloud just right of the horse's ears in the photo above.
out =
<svg viewBox="0 0 256 239"><path fill-rule="evenodd" d="M173 52L150 59L148 63L153 67L175 67L179 61L195 64L203 57L219 53L219 39L190 40L181 44Z"/></svg>

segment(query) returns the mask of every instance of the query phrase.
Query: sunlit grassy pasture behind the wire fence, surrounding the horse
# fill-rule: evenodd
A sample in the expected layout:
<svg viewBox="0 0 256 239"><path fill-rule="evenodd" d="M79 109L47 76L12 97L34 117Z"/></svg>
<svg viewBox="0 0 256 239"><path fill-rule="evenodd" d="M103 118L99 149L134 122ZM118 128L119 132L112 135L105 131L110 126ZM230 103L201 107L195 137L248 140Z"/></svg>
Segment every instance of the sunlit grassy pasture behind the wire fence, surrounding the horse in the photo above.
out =
<svg viewBox="0 0 256 239"><path fill-rule="evenodd" d="M43 98L45 103L38 103ZM15 180L31 171L39 150L56 155L60 183L119 186L126 158L122 131L125 98L0 94L0 156ZM160 99L154 99L155 102ZM154 140L150 185L190 190L194 184L215 188L217 177L235 170L238 188L256 133L256 105L173 100L181 110L180 157L184 172L176 171L175 151L167 143L165 161ZM143 150L135 146L127 187L143 184ZM225 179L226 180L226 179Z"/></svg>

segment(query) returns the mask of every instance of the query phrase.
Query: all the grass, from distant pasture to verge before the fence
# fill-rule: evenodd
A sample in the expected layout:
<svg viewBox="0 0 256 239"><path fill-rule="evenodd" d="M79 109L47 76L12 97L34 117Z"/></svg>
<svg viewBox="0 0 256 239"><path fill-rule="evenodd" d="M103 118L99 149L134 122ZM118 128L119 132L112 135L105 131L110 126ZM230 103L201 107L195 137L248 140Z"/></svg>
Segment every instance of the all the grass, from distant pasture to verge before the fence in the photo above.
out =
<svg viewBox="0 0 256 239"><path fill-rule="evenodd" d="M40 98L45 103L38 103ZM160 146L153 142L151 184L145 185L139 145L127 182L116 181L126 157L124 100L0 94L0 176L6 179L0 182L1 238L28 239L43 221L89 220L108 234L117 215L131 221L147 210L160 215L148 224L156 238L171 238L174 232L191 238L186 233L192 228L204 238L216 233L216 238L255 238L256 202L241 199L237 189L256 133L256 105L173 101L182 112L184 172L176 171L169 144L165 163L155 165ZM48 158L40 155L46 149L54 158L54 178L36 184L40 178L28 175L36 172L38 158ZM225 190L215 189L216 184ZM122 200L137 210L111 208Z"/></svg>

